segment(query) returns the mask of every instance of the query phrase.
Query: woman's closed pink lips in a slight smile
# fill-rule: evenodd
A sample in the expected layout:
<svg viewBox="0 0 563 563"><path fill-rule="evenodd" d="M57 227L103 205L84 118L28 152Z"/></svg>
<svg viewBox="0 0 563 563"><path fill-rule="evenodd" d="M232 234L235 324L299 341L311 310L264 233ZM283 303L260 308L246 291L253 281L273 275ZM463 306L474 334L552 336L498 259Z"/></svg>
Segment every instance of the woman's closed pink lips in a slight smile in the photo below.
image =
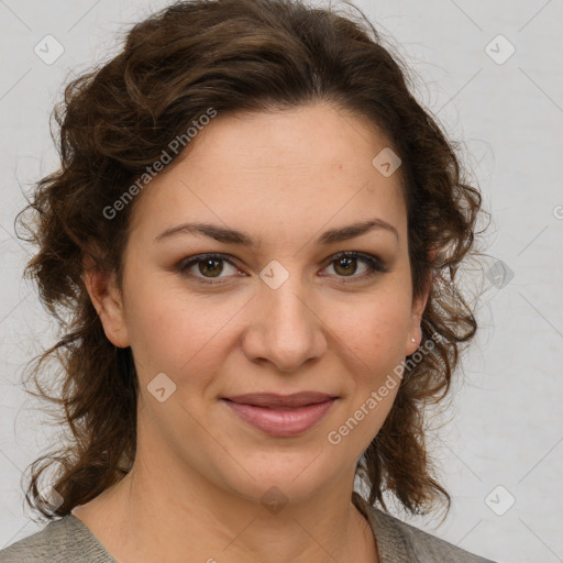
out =
<svg viewBox="0 0 563 563"><path fill-rule="evenodd" d="M318 424L336 399L325 394L302 393L252 394L222 400L249 424L269 435L288 438Z"/></svg>

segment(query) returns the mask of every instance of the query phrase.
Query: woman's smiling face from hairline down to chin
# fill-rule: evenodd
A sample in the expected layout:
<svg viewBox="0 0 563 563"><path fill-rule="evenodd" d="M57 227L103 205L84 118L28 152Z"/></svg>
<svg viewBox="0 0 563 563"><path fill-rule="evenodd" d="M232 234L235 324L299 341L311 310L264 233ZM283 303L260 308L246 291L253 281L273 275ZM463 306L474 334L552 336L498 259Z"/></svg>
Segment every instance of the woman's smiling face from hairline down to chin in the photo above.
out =
<svg viewBox="0 0 563 563"><path fill-rule="evenodd" d="M100 317L132 347L139 452L155 471L253 499L352 484L426 302L412 300L399 175L388 152L373 164L386 147L324 103L219 114L131 203L123 307ZM386 227L356 235L371 221ZM350 251L361 256L339 258ZM303 391L335 399L285 411L227 400Z"/></svg>

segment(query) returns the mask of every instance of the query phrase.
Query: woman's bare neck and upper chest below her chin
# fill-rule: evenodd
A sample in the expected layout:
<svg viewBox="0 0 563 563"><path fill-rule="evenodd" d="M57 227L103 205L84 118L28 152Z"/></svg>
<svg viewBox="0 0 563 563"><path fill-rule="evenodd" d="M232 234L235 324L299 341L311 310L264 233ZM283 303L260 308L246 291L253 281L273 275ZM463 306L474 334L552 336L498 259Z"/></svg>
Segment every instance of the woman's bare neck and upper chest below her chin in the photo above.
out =
<svg viewBox="0 0 563 563"><path fill-rule="evenodd" d="M263 505L136 453L129 475L73 511L122 563L378 561L353 475L307 501Z"/></svg>

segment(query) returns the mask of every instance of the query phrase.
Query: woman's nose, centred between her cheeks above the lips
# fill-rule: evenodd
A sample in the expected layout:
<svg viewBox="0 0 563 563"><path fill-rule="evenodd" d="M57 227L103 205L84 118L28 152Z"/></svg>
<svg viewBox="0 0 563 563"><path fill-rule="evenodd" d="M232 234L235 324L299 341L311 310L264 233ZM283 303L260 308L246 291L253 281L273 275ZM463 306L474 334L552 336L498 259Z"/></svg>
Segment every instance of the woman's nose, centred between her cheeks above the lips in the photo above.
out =
<svg viewBox="0 0 563 563"><path fill-rule="evenodd" d="M294 372L327 350L322 313L297 278L289 276L277 289L261 284L242 339L250 361L271 362L279 372Z"/></svg>

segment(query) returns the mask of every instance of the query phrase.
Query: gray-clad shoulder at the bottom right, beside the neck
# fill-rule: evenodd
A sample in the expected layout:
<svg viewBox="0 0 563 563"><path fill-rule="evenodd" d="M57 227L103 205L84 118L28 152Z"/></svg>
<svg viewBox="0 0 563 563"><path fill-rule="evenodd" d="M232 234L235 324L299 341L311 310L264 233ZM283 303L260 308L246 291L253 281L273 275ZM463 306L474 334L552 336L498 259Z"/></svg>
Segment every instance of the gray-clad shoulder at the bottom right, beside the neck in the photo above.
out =
<svg viewBox="0 0 563 563"><path fill-rule="evenodd" d="M408 525L376 507L365 506L377 539L382 563L495 563Z"/></svg>

